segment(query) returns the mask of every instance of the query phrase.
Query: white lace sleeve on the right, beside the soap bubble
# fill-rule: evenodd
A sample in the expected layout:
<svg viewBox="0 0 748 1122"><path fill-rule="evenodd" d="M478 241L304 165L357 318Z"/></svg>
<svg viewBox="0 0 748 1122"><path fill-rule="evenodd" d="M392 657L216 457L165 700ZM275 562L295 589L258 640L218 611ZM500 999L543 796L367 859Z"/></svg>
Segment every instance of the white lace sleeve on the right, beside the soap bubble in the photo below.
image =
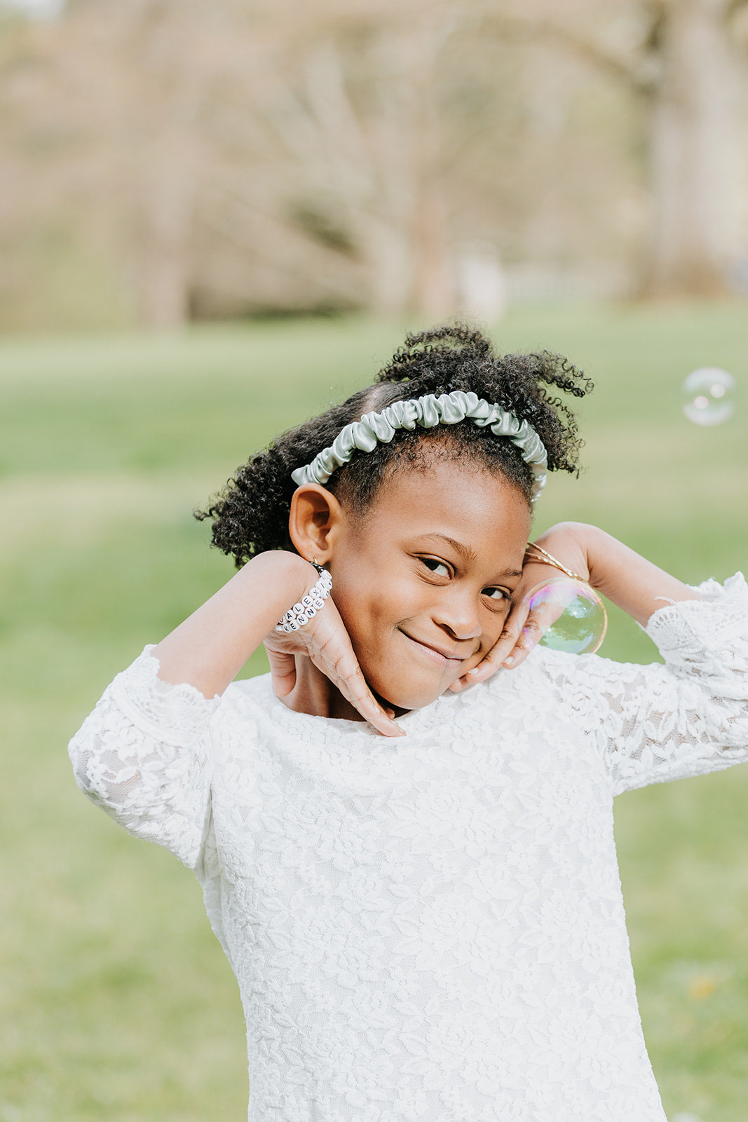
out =
<svg viewBox="0 0 748 1122"><path fill-rule="evenodd" d="M616 794L748 761L748 587L737 573L694 591L705 599L659 608L645 628L664 665L579 660Z"/></svg>

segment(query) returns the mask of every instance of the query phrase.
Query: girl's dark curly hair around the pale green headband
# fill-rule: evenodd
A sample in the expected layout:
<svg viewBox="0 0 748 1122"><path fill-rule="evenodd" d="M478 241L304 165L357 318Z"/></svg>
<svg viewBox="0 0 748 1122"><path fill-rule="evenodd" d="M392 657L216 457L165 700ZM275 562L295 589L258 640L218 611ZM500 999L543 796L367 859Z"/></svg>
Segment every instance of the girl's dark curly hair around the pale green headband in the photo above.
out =
<svg viewBox="0 0 748 1122"><path fill-rule="evenodd" d="M296 484L292 471L311 463L341 429L364 413L453 389L472 390L528 421L545 444L548 470L579 475L576 457L582 441L576 435L576 422L569 406L552 396L546 386L573 397L583 397L592 389L590 379L563 356L548 351L498 356L489 339L463 324L408 334L373 385L283 433L239 468L205 511L195 511L195 517L213 518L211 544L233 555L238 569L266 550L293 551L288 515ZM519 449L471 421L399 430L390 443L379 443L372 452L354 451L350 462L338 468L325 487L353 516L360 517L371 508L385 477L397 466L425 467L434 457L443 456L468 458L502 475L528 504L532 502L533 473Z"/></svg>

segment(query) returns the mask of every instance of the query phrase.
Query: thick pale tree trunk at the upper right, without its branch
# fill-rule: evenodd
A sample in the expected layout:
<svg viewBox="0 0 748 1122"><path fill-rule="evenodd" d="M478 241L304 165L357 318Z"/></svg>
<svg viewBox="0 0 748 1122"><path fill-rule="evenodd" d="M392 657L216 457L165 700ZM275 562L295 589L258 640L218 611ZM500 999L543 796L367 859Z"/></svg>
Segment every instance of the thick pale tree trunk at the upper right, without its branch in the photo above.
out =
<svg viewBox="0 0 748 1122"><path fill-rule="evenodd" d="M735 59L724 0L665 0L653 91L648 296L719 295L735 251Z"/></svg>

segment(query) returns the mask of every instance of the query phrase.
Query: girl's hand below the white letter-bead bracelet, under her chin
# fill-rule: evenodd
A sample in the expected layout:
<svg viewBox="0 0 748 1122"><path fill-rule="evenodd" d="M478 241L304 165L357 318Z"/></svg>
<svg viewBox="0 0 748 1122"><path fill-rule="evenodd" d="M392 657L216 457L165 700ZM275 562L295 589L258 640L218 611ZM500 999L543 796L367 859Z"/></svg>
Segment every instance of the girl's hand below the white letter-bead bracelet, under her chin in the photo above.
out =
<svg viewBox="0 0 748 1122"><path fill-rule="evenodd" d="M310 588L312 587L311 582ZM287 697L296 686L296 655L311 659L347 701L384 736L405 736L393 720L394 710L384 709L367 686L351 641L332 597L324 607L295 632L270 632L264 640L270 663L273 692Z"/></svg>

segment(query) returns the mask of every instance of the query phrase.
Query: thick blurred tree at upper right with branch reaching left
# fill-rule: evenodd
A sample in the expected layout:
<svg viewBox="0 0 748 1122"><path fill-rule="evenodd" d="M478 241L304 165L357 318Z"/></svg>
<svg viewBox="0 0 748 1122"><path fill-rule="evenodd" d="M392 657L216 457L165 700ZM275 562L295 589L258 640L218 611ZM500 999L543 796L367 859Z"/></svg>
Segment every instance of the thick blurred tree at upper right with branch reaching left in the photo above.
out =
<svg viewBox="0 0 748 1122"><path fill-rule="evenodd" d="M495 15L640 100L653 201L645 295L720 295L738 250L740 79L748 0L507 0ZM744 72L744 73L741 73Z"/></svg>

